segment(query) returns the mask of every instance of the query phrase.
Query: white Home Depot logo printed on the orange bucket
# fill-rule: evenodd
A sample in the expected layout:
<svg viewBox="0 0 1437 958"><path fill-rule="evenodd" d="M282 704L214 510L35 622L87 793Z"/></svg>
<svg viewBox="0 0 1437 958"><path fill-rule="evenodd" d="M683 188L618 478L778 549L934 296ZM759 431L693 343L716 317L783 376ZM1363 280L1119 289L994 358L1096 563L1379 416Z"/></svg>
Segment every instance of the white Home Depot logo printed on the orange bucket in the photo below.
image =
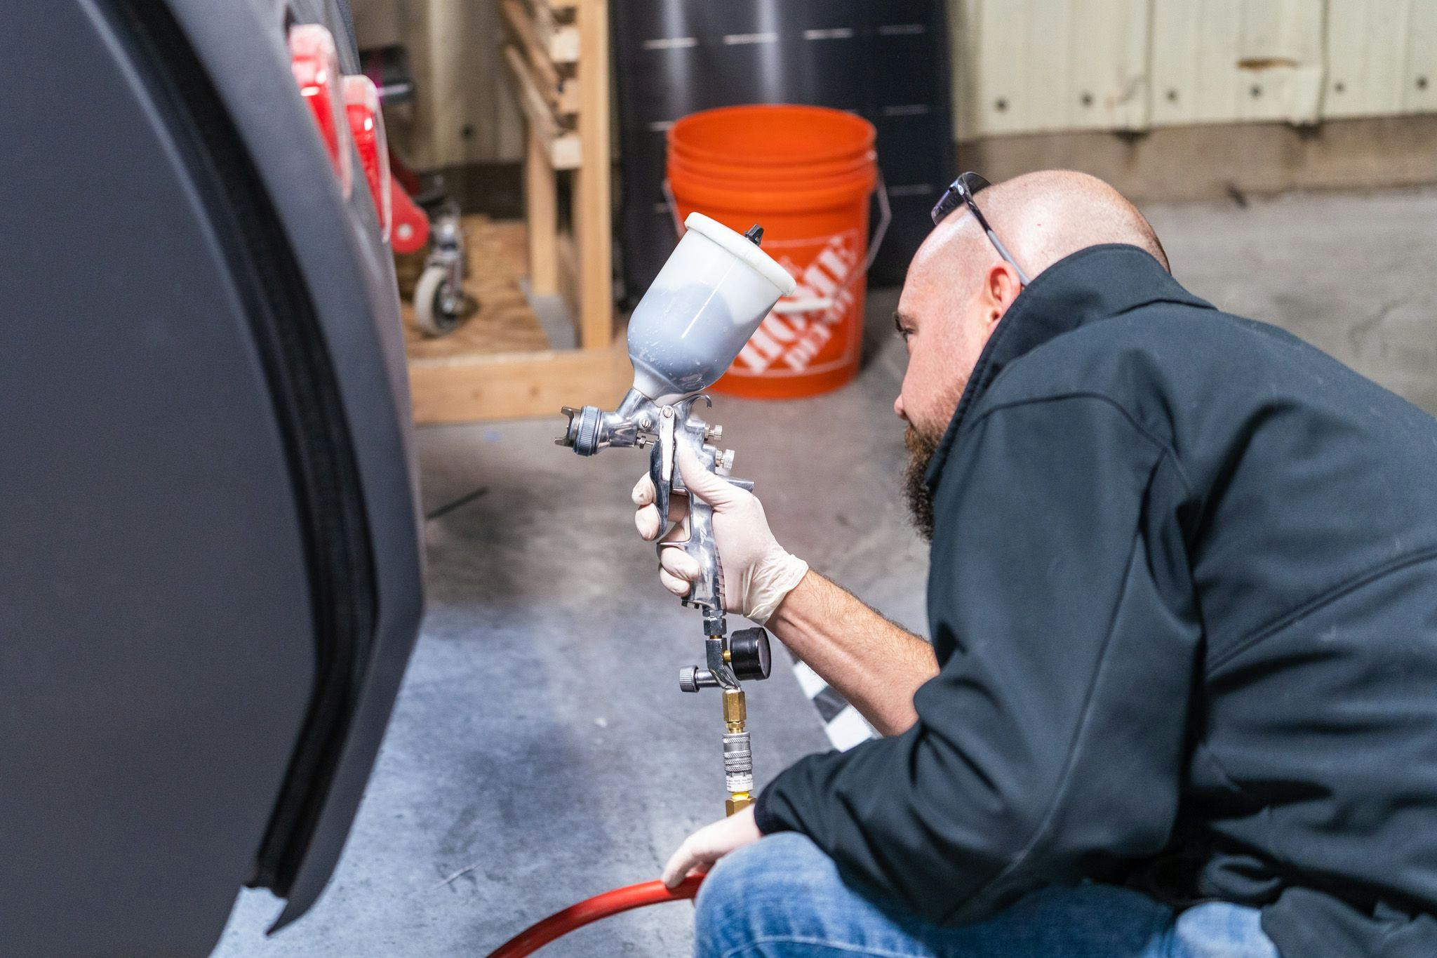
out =
<svg viewBox="0 0 1437 958"><path fill-rule="evenodd" d="M823 300L819 309L770 312L729 369L730 376L813 376L849 369L858 359L862 297L849 282L862 261L858 230L810 240L776 240L764 246L779 266L798 279L789 302ZM815 253L816 251L816 253ZM808 266L803 266L803 261Z"/></svg>

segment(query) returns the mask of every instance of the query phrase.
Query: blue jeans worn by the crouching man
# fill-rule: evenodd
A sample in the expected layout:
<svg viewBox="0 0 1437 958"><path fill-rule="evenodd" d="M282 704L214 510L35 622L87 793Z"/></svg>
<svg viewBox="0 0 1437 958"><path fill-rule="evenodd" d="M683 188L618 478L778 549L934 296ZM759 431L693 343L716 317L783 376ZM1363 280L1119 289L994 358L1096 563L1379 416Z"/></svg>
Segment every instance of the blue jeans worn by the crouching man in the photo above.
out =
<svg viewBox="0 0 1437 958"><path fill-rule="evenodd" d="M1259 912L1206 902L1181 913L1112 885L1039 889L947 928L849 888L802 834L721 859L698 892L697 958L1277 958Z"/></svg>

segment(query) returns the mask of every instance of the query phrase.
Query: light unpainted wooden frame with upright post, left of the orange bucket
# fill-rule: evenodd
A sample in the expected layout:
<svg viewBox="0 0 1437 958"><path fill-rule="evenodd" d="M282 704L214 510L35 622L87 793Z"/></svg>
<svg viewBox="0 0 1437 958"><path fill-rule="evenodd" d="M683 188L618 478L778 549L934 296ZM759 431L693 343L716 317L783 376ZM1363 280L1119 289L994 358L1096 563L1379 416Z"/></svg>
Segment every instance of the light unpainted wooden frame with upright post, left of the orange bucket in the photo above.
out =
<svg viewBox="0 0 1437 958"><path fill-rule="evenodd" d="M504 65L526 126L529 292L563 297L578 349L411 358L417 422L558 415L565 405L608 408L632 375L614 322L608 1L496 3L509 32ZM560 175L573 180L566 217ZM560 230L565 223L569 228Z"/></svg>

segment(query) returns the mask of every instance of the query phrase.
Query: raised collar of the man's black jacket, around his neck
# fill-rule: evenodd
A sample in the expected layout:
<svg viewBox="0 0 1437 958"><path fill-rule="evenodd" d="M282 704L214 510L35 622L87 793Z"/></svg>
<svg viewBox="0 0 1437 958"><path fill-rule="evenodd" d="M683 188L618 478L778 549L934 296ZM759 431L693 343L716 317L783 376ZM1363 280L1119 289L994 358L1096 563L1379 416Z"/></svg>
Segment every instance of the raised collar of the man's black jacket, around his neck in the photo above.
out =
<svg viewBox="0 0 1437 958"><path fill-rule="evenodd" d="M1079 326L1150 303L1213 307L1178 286L1145 250L1125 243L1089 246L1035 276L999 320L979 355L953 421L928 464L928 487L938 484L964 415L1010 362Z"/></svg>

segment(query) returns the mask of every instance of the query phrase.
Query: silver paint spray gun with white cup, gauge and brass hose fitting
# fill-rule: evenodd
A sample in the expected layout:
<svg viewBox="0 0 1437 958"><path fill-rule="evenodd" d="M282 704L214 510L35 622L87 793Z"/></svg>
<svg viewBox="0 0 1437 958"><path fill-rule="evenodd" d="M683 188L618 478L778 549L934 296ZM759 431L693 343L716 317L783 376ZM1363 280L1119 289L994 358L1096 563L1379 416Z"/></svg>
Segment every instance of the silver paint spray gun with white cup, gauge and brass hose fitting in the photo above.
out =
<svg viewBox="0 0 1437 958"><path fill-rule="evenodd" d="M711 405L701 391L729 369L779 297L795 289L793 277L759 248L760 227L739 234L698 213L690 214L684 225L683 238L629 319L634 388L614 412L566 406L568 428L555 440L579 455L609 447L650 447L648 474L661 530L668 529L674 493L687 491L678 471L680 448L734 485L753 490L753 483L727 475L733 450L710 445L720 440L723 427L704 422L694 406L700 401ZM729 635L723 569L707 503L688 497L688 539L664 547L683 547L701 570L683 602L703 613L704 662L685 668L678 687L685 692L723 692L726 807L733 814L753 803L753 753L740 681L769 676L769 633L741 629Z"/></svg>

